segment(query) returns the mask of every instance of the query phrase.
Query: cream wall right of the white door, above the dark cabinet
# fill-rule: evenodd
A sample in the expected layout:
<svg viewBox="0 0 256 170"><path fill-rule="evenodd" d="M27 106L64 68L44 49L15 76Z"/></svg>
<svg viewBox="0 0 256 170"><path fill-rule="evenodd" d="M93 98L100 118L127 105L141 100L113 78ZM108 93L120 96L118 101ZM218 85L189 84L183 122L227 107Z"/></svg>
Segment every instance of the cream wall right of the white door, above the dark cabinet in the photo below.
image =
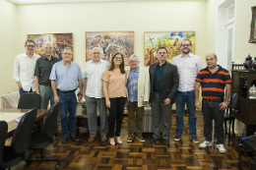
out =
<svg viewBox="0 0 256 170"><path fill-rule="evenodd" d="M244 0L236 0L234 61L243 62L249 53L251 57L256 57L256 43L248 43L252 6L256 6L256 0L246 0L246 3Z"/></svg>

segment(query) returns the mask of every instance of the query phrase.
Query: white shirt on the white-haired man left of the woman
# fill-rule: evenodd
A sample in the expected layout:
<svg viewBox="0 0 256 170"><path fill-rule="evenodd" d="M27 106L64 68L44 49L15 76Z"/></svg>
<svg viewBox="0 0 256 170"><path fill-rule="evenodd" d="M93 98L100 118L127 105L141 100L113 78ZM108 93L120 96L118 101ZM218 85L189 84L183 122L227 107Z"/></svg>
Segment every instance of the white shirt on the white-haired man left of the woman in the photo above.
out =
<svg viewBox="0 0 256 170"><path fill-rule="evenodd" d="M104 97L101 77L109 66L108 62L101 59L98 63L93 60L86 62L83 79L87 79L87 89L85 91L87 96Z"/></svg>

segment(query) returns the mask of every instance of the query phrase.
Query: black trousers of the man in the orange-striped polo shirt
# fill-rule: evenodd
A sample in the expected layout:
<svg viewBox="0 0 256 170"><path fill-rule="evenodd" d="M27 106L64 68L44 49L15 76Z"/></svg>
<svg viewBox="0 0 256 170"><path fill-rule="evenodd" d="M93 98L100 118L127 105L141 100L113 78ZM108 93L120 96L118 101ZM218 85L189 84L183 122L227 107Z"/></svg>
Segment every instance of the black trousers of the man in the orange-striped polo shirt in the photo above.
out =
<svg viewBox="0 0 256 170"><path fill-rule="evenodd" d="M202 113L204 116L204 136L207 142L212 142L213 120L215 120L215 136L217 144L224 143L224 111L220 110L222 102L202 101Z"/></svg>

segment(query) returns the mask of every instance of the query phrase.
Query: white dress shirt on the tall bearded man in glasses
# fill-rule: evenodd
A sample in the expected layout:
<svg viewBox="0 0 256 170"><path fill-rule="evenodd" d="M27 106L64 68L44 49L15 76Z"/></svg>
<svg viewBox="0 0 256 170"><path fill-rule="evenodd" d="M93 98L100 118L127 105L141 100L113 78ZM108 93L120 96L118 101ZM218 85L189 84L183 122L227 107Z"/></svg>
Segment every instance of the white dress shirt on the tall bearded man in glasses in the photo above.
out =
<svg viewBox="0 0 256 170"><path fill-rule="evenodd" d="M203 69L203 62L197 55L189 53L188 57L182 54L174 57L171 64L177 66L179 85L178 91L192 91L195 89L197 74Z"/></svg>

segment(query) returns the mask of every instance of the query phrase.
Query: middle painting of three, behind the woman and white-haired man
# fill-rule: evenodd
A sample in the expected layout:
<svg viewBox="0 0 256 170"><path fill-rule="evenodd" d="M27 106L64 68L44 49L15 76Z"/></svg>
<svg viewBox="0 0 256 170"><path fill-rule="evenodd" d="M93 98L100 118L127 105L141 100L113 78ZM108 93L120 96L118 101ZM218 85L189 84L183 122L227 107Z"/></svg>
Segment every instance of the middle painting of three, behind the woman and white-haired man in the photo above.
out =
<svg viewBox="0 0 256 170"><path fill-rule="evenodd" d="M124 55L124 64L128 64L129 57L134 53L134 31L87 31L86 32L86 60L92 60L92 49L101 47L103 60L111 61L116 52Z"/></svg>

